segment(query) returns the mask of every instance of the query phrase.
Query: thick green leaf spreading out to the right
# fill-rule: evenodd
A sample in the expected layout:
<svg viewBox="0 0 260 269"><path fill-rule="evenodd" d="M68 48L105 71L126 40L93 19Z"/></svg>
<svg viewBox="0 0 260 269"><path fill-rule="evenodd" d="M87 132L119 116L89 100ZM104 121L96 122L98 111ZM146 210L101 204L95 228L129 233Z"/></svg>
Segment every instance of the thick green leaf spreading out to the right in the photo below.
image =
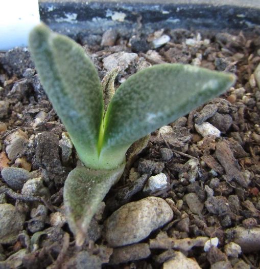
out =
<svg viewBox="0 0 260 269"><path fill-rule="evenodd" d="M163 64L128 78L115 92L105 116L103 155L126 149L226 91L235 76L181 64Z"/></svg>

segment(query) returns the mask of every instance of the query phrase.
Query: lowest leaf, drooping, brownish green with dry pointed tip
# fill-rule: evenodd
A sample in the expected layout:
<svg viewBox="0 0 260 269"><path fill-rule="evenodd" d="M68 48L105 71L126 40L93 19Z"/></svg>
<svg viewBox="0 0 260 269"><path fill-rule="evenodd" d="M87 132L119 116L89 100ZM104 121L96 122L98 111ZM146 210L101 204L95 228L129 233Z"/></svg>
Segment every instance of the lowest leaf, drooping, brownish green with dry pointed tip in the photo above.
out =
<svg viewBox="0 0 260 269"><path fill-rule="evenodd" d="M68 224L77 245L83 244L91 218L124 168L125 164L115 170L90 170L78 166L68 174L63 198Z"/></svg>

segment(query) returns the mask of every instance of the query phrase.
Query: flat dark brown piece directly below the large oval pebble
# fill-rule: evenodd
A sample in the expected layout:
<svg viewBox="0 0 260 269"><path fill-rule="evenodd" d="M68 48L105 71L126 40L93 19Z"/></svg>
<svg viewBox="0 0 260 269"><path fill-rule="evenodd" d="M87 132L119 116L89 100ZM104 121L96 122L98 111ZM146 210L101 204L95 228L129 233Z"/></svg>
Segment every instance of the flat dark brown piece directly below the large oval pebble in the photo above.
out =
<svg viewBox="0 0 260 269"><path fill-rule="evenodd" d="M113 250L110 264L126 263L129 261L145 259L151 255L149 244L140 243L119 247Z"/></svg>

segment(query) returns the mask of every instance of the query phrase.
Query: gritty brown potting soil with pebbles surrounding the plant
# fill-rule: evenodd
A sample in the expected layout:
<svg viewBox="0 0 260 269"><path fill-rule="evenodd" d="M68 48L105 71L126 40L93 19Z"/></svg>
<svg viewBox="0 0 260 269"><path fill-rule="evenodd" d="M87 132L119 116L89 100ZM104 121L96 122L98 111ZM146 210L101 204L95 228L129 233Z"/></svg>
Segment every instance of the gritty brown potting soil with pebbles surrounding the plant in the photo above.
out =
<svg viewBox="0 0 260 269"><path fill-rule="evenodd" d="M170 39L163 37L166 43L158 41L163 34ZM0 268L173 268L176 264L167 262L176 262L179 252L201 268L258 268L260 92L253 73L260 63L259 29L163 29L131 38L108 31L88 44L86 40L79 36L78 42L101 79L114 67L114 61L104 59L117 60L121 70L116 87L138 70L161 63L229 71L237 82L224 95L151 134L146 148L109 191L103 212L91 224L89 240L78 249L64 219L62 197L66 176L76 167L76 152L28 50L1 53L0 169L22 170L10 170L5 180L1 176L0 203L14 205L10 210L22 217L14 237L2 239ZM120 60L119 52L126 53ZM159 173L167 177L166 188L143 191L148 178ZM148 196L168 202L172 221L128 251L110 247L104 221L120 206ZM215 240L208 248L207 238ZM191 262L190 268L196 266Z"/></svg>

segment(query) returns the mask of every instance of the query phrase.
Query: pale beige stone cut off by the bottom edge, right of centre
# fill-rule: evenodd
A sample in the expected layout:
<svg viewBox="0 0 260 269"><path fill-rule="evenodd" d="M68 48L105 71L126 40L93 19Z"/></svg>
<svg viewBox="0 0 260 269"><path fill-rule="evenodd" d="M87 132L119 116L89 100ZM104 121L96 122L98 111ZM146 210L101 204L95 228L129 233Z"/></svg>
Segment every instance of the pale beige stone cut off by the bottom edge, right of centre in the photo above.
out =
<svg viewBox="0 0 260 269"><path fill-rule="evenodd" d="M179 251L175 252L175 257L163 263L162 269L201 269L196 260L187 258Z"/></svg>

